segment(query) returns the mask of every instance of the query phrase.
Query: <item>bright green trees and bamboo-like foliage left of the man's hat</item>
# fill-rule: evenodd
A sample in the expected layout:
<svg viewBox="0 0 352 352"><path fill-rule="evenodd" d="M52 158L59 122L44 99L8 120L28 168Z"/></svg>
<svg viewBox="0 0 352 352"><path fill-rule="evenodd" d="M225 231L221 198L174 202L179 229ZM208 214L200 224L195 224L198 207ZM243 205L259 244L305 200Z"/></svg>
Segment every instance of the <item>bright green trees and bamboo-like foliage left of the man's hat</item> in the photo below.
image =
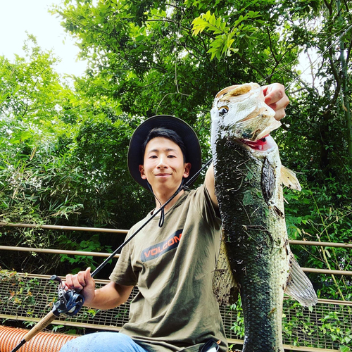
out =
<svg viewBox="0 0 352 352"><path fill-rule="evenodd" d="M26 57L16 56L13 63L0 58L0 221L130 227L140 218L143 202L133 214L130 204L144 196L129 186L125 163L137 122L130 127L109 99L92 100L65 86L54 71L56 58L34 37L25 49ZM104 243L108 250L122 240L87 237L77 241L77 234L39 229L1 228L0 233L6 245L89 251L101 251ZM14 268L24 260L27 271L50 272L60 260L8 254L1 256L1 266Z"/></svg>

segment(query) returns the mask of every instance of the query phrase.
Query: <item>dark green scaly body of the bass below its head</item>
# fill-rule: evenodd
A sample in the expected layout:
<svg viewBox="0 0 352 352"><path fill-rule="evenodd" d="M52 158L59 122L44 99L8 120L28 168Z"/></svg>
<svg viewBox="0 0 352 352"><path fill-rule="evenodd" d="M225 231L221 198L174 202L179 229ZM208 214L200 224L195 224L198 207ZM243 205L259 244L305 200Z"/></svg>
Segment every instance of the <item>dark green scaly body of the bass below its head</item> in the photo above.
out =
<svg viewBox="0 0 352 352"><path fill-rule="evenodd" d="M253 158L231 139L216 144L215 154L216 195L224 240L234 275L241 284L244 351L283 351L277 341L282 334L288 244L287 237L282 236L284 219L269 208L261 194L259 175L264 160ZM274 193L280 194L275 186Z"/></svg>

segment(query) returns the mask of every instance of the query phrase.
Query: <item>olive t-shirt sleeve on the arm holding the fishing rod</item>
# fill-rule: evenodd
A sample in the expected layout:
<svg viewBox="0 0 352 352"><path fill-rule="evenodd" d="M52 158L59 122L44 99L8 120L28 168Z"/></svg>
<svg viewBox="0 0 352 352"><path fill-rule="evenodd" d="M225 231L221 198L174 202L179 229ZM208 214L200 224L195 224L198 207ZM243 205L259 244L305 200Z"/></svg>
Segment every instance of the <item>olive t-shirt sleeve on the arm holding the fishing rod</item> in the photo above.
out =
<svg viewBox="0 0 352 352"><path fill-rule="evenodd" d="M132 232L128 232L126 239L132 235ZM109 279L115 284L122 284L125 286L135 286L137 284L136 273L132 269L131 263L131 245L128 243L121 251L118 263L116 263L113 272Z"/></svg>

